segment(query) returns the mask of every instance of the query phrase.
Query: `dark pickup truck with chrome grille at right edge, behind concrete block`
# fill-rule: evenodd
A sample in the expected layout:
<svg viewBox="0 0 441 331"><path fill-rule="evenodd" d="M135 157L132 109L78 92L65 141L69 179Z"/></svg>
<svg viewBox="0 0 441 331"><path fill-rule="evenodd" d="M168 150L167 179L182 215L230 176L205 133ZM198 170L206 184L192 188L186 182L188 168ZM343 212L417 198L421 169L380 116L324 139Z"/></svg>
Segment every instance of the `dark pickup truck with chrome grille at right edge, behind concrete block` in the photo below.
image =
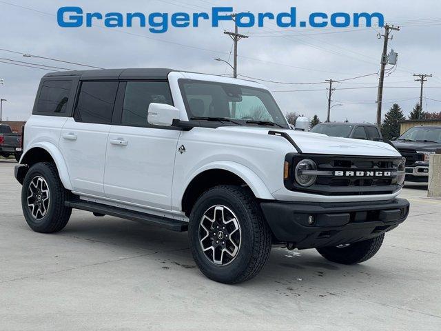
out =
<svg viewBox="0 0 441 331"><path fill-rule="evenodd" d="M441 149L441 126L414 126L392 143L406 158L406 181L427 183L429 156Z"/></svg>

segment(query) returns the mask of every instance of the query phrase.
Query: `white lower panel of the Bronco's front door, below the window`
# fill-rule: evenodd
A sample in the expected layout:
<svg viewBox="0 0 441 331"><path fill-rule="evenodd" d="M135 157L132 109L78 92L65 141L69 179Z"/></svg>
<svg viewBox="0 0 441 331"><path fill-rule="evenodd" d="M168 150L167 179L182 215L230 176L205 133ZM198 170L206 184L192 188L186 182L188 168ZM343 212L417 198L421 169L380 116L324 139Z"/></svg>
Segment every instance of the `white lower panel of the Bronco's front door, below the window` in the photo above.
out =
<svg viewBox="0 0 441 331"><path fill-rule="evenodd" d="M170 210L179 134L178 130L112 126L105 159L105 196Z"/></svg>

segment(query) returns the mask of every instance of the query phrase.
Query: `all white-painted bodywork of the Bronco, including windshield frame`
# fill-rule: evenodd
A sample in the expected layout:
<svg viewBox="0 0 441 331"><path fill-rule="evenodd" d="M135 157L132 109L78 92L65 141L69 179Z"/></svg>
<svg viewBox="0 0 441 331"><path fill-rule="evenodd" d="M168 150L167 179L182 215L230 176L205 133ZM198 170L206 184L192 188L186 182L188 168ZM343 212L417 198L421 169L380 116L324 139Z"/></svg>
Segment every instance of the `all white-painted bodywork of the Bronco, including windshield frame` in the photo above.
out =
<svg viewBox="0 0 441 331"><path fill-rule="evenodd" d="M198 79L265 88L260 83L206 74L170 72L174 107L187 112L178 79ZM387 143L327 137L270 127L224 126L189 131L77 123L72 118L32 115L25 126L25 153L48 150L61 181L83 199L186 219L181 212L189 183L206 170L222 169L243 179L259 199L302 202L389 200L399 194L325 196L287 190L283 164L295 153L283 131L307 154L400 157ZM179 152L180 146L185 152ZM172 215L172 216L170 216Z"/></svg>

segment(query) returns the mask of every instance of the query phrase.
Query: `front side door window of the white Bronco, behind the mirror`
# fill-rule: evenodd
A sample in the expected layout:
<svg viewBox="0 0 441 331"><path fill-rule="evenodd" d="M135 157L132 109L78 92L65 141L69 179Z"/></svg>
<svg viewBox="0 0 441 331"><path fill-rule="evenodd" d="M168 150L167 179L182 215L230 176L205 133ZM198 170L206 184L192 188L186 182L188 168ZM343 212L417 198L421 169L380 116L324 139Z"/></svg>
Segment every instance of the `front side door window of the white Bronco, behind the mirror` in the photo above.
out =
<svg viewBox="0 0 441 331"><path fill-rule="evenodd" d="M128 81L125 87L123 126L147 126L150 103L173 105L170 88L165 81Z"/></svg>

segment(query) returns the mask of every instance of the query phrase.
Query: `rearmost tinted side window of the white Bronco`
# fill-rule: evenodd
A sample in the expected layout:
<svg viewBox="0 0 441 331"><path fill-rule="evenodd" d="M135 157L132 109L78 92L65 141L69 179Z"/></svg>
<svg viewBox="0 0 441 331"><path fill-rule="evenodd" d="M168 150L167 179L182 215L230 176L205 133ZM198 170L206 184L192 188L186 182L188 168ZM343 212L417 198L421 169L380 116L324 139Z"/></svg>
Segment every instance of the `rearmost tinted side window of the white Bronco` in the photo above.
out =
<svg viewBox="0 0 441 331"><path fill-rule="evenodd" d="M72 81L45 81L41 86L37 112L61 113L66 111Z"/></svg>

